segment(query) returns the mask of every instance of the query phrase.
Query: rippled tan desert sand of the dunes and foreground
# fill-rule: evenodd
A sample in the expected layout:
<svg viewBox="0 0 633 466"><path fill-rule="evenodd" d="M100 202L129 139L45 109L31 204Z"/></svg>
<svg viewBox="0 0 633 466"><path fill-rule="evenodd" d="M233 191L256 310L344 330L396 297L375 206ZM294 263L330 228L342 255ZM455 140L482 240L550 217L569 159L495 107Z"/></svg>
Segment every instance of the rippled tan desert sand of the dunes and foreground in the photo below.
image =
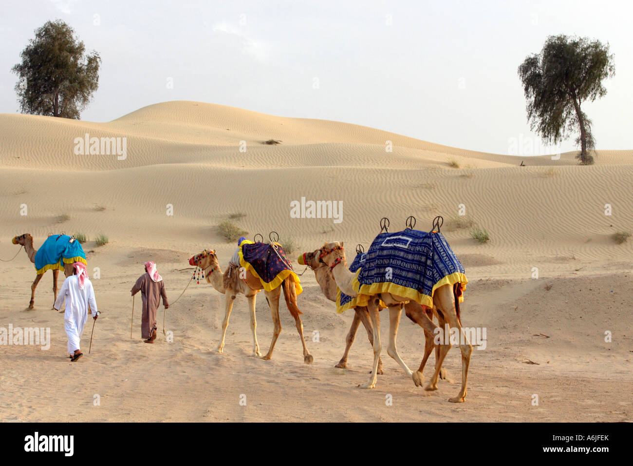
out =
<svg viewBox="0 0 633 466"><path fill-rule="evenodd" d="M75 155L74 139L86 133L127 138L127 157ZM85 356L70 363L63 314L51 310L51 272L28 310L33 264L23 251L0 262L0 327L51 328L46 351L0 346L2 421L632 420L633 240L618 244L611 235L633 230L633 150L600 150L595 165L582 167L574 153L551 160L472 152L354 124L192 101L151 105L108 123L0 115L0 137L0 259L18 252L11 238L22 233L34 236L35 247L48 233L89 235L84 249L91 276L99 268L92 282L102 313L91 354L89 320ZM271 138L281 143L262 144ZM291 218L290 203L301 197L342 201L342 222ZM456 228L460 204L489 232L488 243ZM216 249L227 264L235 243L217 224L233 214L244 215L235 223L249 238L275 230L281 240L294 240L298 273L296 257L324 240L344 241L351 262L354 246L367 248L379 233L380 217L389 217L390 231L403 229L410 215L417 229L430 230L442 215L442 233L469 279L463 324L487 328L486 349L473 351L466 402L447 401L459 389L458 348L445 362L454 383L441 380L438 391L425 392L387 356L386 315L385 373L375 389L356 388L372 362L365 330L358 331L349 368L334 368L352 314L335 313L309 269L301 276L299 307L313 365L303 363L283 300L271 361L251 356L243 296L231 314L225 353L215 353L223 295L202 280L167 311L173 342L162 335L161 307L159 339L143 344L139 299L130 339L129 290L143 262L158 264L174 301L191 278L185 268L193 254ZM110 242L97 247L99 233ZM272 319L263 294L257 318L265 353ZM417 367L423 333L404 316L398 347ZM427 380L433 363L432 356Z"/></svg>

